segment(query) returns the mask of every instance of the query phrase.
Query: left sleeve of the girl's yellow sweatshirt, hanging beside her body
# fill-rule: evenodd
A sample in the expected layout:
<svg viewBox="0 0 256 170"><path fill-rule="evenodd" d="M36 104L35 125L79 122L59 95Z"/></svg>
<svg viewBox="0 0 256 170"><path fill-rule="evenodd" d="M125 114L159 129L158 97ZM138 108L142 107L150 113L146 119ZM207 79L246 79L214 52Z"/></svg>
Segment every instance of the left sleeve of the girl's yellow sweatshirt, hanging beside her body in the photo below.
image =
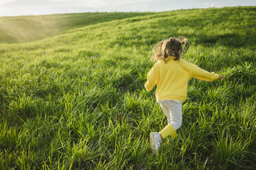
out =
<svg viewBox="0 0 256 170"><path fill-rule="evenodd" d="M145 82L145 88L147 91L152 90L152 88L156 86L158 82L158 73L156 67L156 64L154 64L149 73L147 73L147 82Z"/></svg>

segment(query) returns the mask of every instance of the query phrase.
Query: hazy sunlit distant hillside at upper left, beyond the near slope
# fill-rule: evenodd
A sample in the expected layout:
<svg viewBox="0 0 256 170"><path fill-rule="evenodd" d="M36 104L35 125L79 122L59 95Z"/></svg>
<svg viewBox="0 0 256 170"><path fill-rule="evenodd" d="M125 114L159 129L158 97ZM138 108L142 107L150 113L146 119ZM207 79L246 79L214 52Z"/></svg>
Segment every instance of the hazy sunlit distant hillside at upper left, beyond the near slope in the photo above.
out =
<svg viewBox="0 0 256 170"><path fill-rule="evenodd" d="M153 12L89 12L39 16L0 17L0 43L31 42L85 27Z"/></svg>

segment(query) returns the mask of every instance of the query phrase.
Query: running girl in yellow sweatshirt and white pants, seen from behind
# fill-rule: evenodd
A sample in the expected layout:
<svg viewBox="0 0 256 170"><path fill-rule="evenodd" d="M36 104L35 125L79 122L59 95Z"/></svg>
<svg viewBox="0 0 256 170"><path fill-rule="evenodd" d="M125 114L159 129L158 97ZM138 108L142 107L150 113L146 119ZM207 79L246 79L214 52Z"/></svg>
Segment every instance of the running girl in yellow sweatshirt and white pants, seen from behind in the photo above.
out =
<svg viewBox="0 0 256 170"><path fill-rule="evenodd" d="M224 79L221 75L209 73L191 62L180 59L182 51L186 53L188 49L189 43L183 37L171 37L153 47L152 58L158 62L147 74L145 88L149 91L157 84L156 99L168 120L168 125L162 131L151 132L149 135L151 149L155 153L158 153L162 139L169 135L173 138L177 136L176 130L182 125L182 100L186 99L187 83L191 77L209 82Z"/></svg>

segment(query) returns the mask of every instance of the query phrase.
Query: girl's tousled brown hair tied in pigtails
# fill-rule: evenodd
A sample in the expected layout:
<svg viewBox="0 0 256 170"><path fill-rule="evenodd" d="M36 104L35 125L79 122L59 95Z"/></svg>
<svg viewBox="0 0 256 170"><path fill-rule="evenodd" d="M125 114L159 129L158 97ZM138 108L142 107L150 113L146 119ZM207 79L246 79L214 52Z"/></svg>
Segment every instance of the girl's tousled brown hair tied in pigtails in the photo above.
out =
<svg viewBox="0 0 256 170"><path fill-rule="evenodd" d="M182 44L184 44L184 51L182 49ZM153 60L164 60L167 61L167 58L173 56L174 60L180 60L180 51L186 53L189 49L189 42L186 38L180 36L179 38L169 38L167 40L162 40L158 42L155 47L153 47Z"/></svg>

